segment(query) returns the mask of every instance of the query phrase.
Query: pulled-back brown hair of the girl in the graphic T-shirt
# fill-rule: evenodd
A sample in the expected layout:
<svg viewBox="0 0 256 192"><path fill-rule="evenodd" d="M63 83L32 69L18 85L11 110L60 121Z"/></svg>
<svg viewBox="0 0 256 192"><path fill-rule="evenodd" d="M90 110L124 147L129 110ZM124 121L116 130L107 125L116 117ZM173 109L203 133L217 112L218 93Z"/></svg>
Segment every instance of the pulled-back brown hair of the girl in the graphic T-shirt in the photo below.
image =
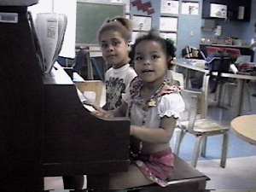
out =
<svg viewBox="0 0 256 192"><path fill-rule="evenodd" d="M119 32L121 36L125 39L125 41L127 42L131 41L131 32L132 32L131 20L128 20L124 17L119 17L119 16L114 17L113 19L106 20L98 31L98 34L97 34L98 41L100 41L100 38L103 32L110 31L110 30Z"/></svg>

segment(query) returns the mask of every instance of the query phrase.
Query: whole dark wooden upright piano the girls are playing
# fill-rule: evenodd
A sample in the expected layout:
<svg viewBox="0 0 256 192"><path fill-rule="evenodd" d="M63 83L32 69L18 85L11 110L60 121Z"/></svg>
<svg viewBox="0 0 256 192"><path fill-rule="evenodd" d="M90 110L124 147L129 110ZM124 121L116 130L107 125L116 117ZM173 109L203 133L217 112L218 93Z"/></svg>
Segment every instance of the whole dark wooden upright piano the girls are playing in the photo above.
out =
<svg viewBox="0 0 256 192"><path fill-rule="evenodd" d="M26 6L0 4L2 13L17 20L0 18L0 190L41 190L44 177L126 171L130 121L92 115L61 67L41 72Z"/></svg>

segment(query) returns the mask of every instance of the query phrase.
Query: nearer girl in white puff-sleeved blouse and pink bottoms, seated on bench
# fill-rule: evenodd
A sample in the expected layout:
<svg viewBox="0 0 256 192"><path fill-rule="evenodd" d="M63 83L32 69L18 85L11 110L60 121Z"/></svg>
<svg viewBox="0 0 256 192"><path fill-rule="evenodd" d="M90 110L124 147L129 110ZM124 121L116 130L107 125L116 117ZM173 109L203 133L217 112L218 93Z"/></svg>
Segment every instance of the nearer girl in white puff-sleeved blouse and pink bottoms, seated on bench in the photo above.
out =
<svg viewBox="0 0 256 192"><path fill-rule="evenodd" d="M131 82L119 108L96 112L103 117L126 113L131 119L131 165L128 172L110 175L110 189L150 183L165 187L166 179L172 175L173 154L169 142L179 113L184 109L178 88L165 81L174 51L170 41L154 32L137 38L132 53L138 77Z"/></svg>

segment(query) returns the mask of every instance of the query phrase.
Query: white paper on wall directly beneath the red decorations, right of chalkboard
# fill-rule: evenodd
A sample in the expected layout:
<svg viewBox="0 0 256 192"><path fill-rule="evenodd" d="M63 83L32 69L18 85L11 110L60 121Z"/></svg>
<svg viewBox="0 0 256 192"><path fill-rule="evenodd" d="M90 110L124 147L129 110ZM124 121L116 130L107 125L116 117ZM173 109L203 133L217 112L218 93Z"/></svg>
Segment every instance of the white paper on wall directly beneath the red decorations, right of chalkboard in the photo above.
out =
<svg viewBox="0 0 256 192"><path fill-rule="evenodd" d="M151 17L133 15L131 20L133 30L149 31L151 29Z"/></svg>

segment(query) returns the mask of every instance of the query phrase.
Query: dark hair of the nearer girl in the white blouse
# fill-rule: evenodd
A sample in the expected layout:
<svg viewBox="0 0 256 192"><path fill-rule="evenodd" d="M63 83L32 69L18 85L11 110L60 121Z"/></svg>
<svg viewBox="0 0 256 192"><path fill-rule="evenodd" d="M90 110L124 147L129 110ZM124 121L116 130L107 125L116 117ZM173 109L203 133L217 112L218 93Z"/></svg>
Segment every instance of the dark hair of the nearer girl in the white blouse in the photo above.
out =
<svg viewBox="0 0 256 192"><path fill-rule="evenodd" d="M169 57L169 56L171 56L172 58L175 57L176 48L174 46L174 42L172 41L172 39L161 38L160 35L159 35L159 32L157 32L154 29L151 29L148 32L148 34L137 38L135 43L131 46L130 57L131 57L132 62L133 62L133 59L134 59L135 49L137 47L137 44L141 43L142 41L155 41L155 42L160 44L160 46L165 51L165 54L166 54L167 57Z"/></svg>

